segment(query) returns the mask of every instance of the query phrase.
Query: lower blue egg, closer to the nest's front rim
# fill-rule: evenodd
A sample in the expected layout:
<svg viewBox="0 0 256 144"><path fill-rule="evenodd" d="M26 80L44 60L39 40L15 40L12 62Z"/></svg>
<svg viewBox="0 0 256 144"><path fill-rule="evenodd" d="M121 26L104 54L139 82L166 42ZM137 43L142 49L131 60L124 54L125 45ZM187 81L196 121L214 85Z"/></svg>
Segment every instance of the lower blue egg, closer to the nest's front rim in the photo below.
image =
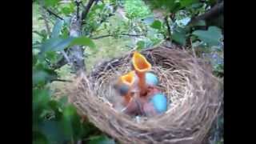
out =
<svg viewBox="0 0 256 144"><path fill-rule="evenodd" d="M158 93L150 99L150 102L153 103L154 109L158 114L162 114L167 110L167 98L165 95Z"/></svg>

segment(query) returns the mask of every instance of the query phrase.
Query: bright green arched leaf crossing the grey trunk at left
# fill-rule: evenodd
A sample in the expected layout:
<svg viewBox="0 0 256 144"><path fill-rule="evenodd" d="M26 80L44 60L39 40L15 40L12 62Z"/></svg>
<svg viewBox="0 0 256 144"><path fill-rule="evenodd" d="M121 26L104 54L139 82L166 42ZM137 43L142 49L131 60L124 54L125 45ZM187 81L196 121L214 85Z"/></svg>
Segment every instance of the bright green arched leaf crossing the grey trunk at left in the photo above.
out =
<svg viewBox="0 0 256 144"><path fill-rule="evenodd" d="M94 42L87 37L74 38L70 46L74 45L89 46L92 49L96 49L96 45L94 44Z"/></svg>

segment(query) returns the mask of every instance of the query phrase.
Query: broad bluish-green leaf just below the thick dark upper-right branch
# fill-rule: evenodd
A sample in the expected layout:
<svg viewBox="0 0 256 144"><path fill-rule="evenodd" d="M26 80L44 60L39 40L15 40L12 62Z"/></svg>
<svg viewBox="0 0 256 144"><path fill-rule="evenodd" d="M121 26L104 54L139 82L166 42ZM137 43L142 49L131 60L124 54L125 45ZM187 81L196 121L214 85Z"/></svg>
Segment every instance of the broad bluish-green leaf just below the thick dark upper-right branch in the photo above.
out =
<svg viewBox="0 0 256 144"><path fill-rule="evenodd" d="M216 26L210 26L208 30L195 30L192 34L206 42L209 46L218 46L222 41L222 30Z"/></svg>

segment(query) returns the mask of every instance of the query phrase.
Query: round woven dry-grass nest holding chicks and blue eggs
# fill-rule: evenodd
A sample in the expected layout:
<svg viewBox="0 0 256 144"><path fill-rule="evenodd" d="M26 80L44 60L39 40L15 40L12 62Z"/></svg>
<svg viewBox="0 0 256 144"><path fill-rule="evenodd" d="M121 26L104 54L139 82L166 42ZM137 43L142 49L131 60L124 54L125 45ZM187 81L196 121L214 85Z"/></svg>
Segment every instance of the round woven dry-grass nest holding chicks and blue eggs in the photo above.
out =
<svg viewBox="0 0 256 144"><path fill-rule="evenodd" d="M159 86L169 99L165 114L133 118L112 106L111 82L130 70L132 53L79 74L70 101L79 114L122 143L202 143L222 102L222 84L210 64L185 50L157 47L141 52L158 75Z"/></svg>

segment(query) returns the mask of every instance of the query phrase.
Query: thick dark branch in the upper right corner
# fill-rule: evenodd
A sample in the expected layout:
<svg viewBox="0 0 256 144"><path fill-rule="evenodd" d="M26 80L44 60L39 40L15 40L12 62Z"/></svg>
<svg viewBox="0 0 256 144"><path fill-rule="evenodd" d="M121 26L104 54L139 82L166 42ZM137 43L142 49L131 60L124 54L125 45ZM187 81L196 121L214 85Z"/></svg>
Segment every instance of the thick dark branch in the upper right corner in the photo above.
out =
<svg viewBox="0 0 256 144"><path fill-rule="evenodd" d="M209 18L213 18L223 13L223 4L224 2L220 2L216 4L213 8L208 10L205 14L199 15L198 17L192 18L190 23L198 22L199 20L207 20Z"/></svg>

